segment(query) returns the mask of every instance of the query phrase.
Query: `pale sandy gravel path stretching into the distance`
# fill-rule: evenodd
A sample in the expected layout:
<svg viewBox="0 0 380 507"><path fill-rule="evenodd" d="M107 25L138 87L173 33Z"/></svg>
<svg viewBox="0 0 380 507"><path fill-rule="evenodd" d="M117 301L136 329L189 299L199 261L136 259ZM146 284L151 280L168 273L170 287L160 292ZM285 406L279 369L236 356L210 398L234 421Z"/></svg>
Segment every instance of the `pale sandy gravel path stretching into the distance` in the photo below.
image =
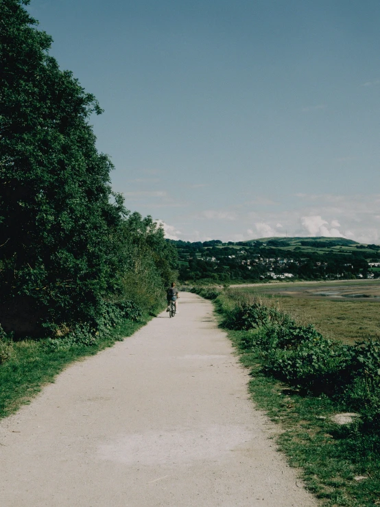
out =
<svg viewBox="0 0 380 507"><path fill-rule="evenodd" d="M211 303L67 368L0 423L1 507L315 507Z"/></svg>

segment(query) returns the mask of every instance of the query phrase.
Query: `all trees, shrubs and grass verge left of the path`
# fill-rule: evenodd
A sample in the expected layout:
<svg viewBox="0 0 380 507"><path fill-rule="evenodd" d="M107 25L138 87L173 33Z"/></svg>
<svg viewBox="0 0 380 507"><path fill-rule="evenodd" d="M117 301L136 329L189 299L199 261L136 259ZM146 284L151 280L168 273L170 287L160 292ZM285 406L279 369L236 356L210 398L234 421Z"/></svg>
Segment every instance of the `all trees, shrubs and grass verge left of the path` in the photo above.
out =
<svg viewBox="0 0 380 507"><path fill-rule="evenodd" d="M27 3L0 0L0 415L147 322L177 274L163 228L112 191L102 110Z"/></svg>

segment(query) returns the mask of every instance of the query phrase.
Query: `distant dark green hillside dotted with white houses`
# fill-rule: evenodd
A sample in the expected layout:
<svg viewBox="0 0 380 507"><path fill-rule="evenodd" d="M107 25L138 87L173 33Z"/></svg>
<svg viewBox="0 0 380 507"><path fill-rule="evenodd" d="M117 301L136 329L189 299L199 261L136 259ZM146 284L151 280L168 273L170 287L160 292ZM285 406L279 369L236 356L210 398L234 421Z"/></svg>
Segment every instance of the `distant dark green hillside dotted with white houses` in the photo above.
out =
<svg viewBox="0 0 380 507"><path fill-rule="evenodd" d="M250 241L171 241L181 281L372 279L380 246L342 237L266 237Z"/></svg>

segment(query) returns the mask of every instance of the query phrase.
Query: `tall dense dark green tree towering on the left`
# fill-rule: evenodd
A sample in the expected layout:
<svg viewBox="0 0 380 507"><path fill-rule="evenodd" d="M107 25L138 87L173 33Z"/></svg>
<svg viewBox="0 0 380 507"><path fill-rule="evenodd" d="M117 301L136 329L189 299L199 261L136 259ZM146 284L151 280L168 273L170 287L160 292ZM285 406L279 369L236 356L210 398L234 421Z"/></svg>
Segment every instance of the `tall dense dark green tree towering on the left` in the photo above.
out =
<svg viewBox="0 0 380 507"><path fill-rule="evenodd" d="M0 0L0 312L16 333L96 322L122 290L125 213L88 118L101 113L49 56L23 4Z"/></svg>

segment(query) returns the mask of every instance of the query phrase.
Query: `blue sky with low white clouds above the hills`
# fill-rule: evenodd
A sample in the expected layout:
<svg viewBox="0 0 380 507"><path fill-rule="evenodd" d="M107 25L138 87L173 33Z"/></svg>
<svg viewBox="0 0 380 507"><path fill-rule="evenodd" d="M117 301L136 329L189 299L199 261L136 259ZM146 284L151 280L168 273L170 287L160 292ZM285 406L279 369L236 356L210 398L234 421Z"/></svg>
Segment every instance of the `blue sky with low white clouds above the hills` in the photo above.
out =
<svg viewBox="0 0 380 507"><path fill-rule="evenodd" d="M379 0L32 0L167 237L380 244Z"/></svg>

